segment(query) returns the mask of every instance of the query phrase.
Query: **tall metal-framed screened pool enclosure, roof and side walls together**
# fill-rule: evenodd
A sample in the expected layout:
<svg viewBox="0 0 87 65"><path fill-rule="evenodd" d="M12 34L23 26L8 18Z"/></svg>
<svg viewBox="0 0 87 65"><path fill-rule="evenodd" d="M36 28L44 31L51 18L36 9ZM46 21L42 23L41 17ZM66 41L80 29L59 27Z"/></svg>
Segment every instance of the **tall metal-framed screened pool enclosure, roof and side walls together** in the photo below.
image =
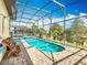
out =
<svg viewBox="0 0 87 65"><path fill-rule="evenodd" d="M18 0L12 33L87 50L87 0Z"/></svg>

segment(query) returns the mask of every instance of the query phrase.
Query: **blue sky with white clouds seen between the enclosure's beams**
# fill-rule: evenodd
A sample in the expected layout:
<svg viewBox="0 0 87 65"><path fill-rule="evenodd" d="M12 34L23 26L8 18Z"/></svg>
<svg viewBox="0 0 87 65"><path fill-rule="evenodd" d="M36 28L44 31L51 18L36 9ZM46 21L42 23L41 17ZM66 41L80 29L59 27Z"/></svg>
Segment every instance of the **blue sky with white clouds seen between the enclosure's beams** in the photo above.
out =
<svg viewBox="0 0 87 65"><path fill-rule="evenodd" d="M48 11L48 12L55 11L56 9L59 8L59 6L57 6L53 1L51 3L48 3L51 0L28 0L28 1L26 0L18 0L18 1L23 2L25 4L36 7L36 8L43 8L44 4L47 3L46 7L44 7L43 9ZM87 14L87 0L57 0L57 1L59 3L66 6L66 19L77 18L79 15L86 15ZM30 13L34 14L37 10L18 4L18 11L24 11L24 12L30 12ZM42 12L42 11L39 11L36 14L45 15L45 13ZM53 13L52 15L46 15L44 18L44 20L45 20L44 22L45 22L45 24L50 23L50 21L48 21L50 17L53 18L53 22L62 21L63 15L64 15L63 10L58 10L55 13ZM18 17L21 17L21 14L18 14ZM37 17L29 15L29 14L23 14L22 18L39 19ZM28 20L24 20L24 19L17 19L17 20L28 22ZM85 18L84 18L84 20L87 21L87 19L85 19ZM22 24L24 24L24 23L22 23ZM40 24L42 24L42 22L40 22Z"/></svg>

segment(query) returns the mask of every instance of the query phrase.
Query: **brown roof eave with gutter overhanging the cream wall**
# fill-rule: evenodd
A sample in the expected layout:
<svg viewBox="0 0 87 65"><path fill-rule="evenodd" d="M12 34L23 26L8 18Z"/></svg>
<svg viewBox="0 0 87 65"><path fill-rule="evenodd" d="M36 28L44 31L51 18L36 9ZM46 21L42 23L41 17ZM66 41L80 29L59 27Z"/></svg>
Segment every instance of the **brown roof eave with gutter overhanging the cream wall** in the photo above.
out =
<svg viewBox="0 0 87 65"><path fill-rule="evenodd" d="M17 17L17 0L3 0L11 19Z"/></svg>

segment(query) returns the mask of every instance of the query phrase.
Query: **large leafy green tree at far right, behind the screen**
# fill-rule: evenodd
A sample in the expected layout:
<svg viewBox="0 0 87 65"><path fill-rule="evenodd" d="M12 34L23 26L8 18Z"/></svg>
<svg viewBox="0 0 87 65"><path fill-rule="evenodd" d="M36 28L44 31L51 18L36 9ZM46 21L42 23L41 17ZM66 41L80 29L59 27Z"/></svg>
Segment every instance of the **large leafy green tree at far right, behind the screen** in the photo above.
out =
<svg viewBox="0 0 87 65"><path fill-rule="evenodd" d="M76 42L77 44L84 44L83 36L86 33L86 26L81 19L73 21L72 26L66 30L66 40L68 42Z"/></svg>

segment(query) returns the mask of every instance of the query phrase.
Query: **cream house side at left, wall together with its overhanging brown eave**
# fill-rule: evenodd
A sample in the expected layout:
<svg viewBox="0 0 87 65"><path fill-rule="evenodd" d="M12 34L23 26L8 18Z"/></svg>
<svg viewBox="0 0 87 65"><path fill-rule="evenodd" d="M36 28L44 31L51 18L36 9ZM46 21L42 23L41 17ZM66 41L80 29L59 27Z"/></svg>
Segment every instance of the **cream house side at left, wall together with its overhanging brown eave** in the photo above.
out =
<svg viewBox="0 0 87 65"><path fill-rule="evenodd" d="M15 18L15 0L0 0L0 35L10 36L10 20Z"/></svg>

